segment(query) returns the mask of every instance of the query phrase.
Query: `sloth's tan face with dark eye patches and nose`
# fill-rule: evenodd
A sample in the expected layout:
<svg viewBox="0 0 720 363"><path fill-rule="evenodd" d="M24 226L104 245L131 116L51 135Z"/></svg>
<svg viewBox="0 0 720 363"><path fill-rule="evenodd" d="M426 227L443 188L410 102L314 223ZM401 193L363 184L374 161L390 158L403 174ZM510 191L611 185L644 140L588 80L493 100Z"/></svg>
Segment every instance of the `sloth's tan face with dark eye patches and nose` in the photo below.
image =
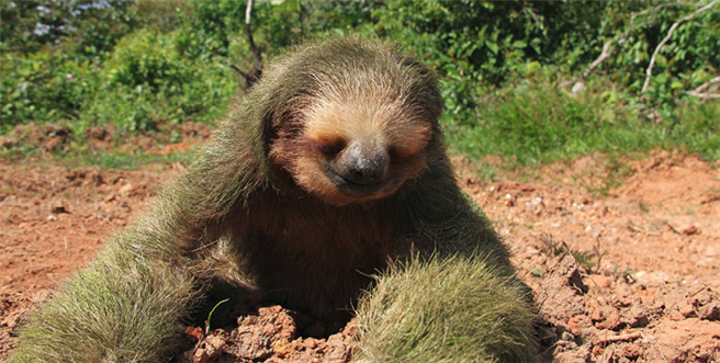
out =
<svg viewBox="0 0 720 363"><path fill-rule="evenodd" d="M334 205L362 203L395 193L426 169L432 124L402 101L324 100L305 111L292 143L273 147L295 183Z"/></svg>

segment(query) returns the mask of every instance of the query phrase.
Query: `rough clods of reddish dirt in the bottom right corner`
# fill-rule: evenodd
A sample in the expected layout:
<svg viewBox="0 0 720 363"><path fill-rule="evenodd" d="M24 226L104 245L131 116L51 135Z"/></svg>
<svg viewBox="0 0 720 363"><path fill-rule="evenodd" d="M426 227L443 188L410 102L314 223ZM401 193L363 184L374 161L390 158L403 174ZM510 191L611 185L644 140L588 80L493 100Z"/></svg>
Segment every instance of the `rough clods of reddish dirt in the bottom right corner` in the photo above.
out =
<svg viewBox="0 0 720 363"><path fill-rule="evenodd" d="M649 291L583 277L572 256L553 260L535 290L547 361L717 362L720 295L706 286Z"/></svg>

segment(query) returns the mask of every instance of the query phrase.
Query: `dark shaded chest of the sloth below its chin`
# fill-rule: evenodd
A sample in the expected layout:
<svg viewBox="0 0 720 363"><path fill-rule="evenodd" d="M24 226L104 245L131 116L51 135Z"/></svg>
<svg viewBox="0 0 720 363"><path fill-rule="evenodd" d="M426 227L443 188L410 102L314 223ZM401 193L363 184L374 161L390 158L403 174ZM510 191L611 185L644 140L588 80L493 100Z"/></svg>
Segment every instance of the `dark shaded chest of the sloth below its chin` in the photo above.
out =
<svg viewBox="0 0 720 363"><path fill-rule="evenodd" d="M291 211L256 215L243 238L243 254L260 287L292 307L331 317L396 253L397 232L392 218L365 211Z"/></svg>

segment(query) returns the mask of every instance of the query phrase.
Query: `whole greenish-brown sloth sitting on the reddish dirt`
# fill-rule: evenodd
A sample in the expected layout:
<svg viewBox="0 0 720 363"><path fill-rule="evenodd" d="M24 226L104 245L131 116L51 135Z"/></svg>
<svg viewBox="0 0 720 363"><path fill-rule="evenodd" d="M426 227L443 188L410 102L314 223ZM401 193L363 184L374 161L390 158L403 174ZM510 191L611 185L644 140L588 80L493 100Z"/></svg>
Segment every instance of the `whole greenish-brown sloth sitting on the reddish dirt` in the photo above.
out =
<svg viewBox="0 0 720 363"><path fill-rule="evenodd" d="M395 45L295 46L29 316L10 362L171 360L214 284L357 316L356 362L535 361L528 288L458 186L442 107L437 76Z"/></svg>

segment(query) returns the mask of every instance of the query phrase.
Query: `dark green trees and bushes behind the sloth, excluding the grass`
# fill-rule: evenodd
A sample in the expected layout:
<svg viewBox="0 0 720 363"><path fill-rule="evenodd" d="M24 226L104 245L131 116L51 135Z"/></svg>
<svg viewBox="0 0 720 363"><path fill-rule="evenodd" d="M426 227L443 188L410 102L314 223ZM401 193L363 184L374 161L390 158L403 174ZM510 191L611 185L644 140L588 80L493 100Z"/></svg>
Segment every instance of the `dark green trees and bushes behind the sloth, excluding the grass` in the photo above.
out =
<svg viewBox="0 0 720 363"><path fill-rule="evenodd" d="M328 34L400 43L441 73L447 118L458 126L482 126L494 90L536 84L539 75L555 75L556 89L607 84L614 107L671 120L680 103L718 94L718 2L271 0L255 2L251 22L266 60ZM244 84L226 65L252 67L246 5L0 0L0 131L31 121L135 131L216 117Z"/></svg>

